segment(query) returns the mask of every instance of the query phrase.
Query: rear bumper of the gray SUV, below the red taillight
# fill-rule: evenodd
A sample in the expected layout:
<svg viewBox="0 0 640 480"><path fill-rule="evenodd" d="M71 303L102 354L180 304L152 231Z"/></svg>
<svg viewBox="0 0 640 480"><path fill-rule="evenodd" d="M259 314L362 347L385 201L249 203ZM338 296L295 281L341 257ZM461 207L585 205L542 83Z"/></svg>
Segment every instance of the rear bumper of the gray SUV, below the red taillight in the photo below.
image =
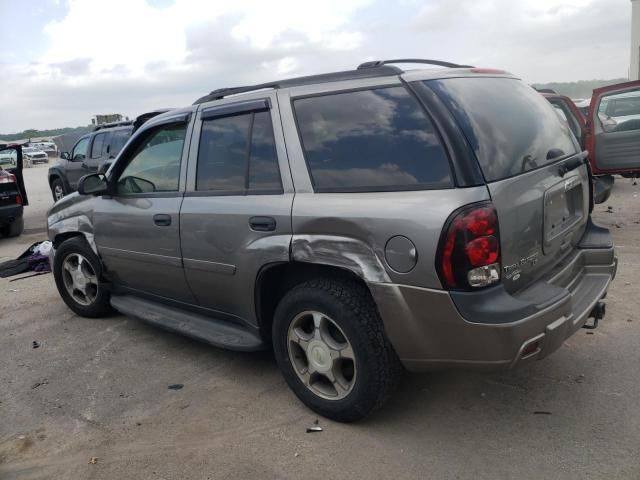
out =
<svg viewBox="0 0 640 480"><path fill-rule="evenodd" d="M502 285L469 293L370 284L385 330L408 370L505 369L557 350L582 327L615 277L613 246L575 250L514 295ZM533 352L525 347L537 342Z"/></svg>

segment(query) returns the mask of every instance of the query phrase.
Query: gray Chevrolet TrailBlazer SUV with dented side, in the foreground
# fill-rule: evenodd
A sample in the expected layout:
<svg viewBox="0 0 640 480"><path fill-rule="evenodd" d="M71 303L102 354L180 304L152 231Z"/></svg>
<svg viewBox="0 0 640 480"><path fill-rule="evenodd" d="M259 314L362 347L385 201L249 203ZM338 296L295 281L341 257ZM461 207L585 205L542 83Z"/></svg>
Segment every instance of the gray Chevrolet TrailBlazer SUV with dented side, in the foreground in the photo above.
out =
<svg viewBox="0 0 640 480"><path fill-rule="evenodd" d="M510 368L594 327L617 260L586 152L514 76L419 62L451 68L370 62L149 120L49 212L62 299L273 348L339 421L403 367Z"/></svg>

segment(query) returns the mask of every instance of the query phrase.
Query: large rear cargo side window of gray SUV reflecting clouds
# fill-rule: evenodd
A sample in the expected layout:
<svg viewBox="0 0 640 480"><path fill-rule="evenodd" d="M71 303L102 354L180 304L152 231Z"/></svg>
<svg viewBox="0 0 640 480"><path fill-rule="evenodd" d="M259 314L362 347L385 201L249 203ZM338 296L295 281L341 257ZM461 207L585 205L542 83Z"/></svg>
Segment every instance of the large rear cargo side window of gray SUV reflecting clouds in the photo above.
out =
<svg viewBox="0 0 640 480"><path fill-rule="evenodd" d="M440 139L404 87L300 98L293 106L315 191L452 185Z"/></svg>

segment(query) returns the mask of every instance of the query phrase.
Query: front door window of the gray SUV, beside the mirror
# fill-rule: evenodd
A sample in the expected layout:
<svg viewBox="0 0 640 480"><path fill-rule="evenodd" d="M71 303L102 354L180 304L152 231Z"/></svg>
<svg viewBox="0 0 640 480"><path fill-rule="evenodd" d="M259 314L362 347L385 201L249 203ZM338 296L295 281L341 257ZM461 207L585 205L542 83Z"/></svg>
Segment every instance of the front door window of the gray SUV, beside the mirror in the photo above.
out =
<svg viewBox="0 0 640 480"><path fill-rule="evenodd" d="M147 136L122 171L117 192L177 192L185 132L186 125L167 125Z"/></svg>

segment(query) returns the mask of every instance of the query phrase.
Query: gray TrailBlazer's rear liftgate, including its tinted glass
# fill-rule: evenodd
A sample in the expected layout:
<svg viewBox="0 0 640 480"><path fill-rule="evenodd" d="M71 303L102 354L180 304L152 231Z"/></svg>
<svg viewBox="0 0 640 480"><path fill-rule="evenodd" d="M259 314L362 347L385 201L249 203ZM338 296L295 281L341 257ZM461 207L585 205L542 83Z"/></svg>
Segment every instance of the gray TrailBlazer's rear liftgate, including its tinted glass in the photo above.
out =
<svg viewBox="0 0 640 480"><path fill-rule="evenodd" d="M526 287L579 242L589 175L566 122L539 93L508 77L427 81L449 107L482 168L498 213L503 284Z"/></svg>

